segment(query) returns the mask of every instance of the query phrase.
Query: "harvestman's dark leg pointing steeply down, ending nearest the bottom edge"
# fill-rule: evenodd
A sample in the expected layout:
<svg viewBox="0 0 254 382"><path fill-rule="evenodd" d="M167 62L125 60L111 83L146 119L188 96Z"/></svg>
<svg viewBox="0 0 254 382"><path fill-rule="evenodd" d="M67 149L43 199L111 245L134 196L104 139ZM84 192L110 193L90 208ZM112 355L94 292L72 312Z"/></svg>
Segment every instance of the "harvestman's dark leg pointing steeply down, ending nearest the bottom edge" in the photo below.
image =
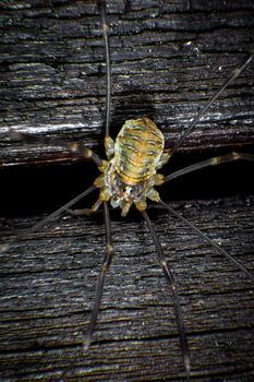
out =
<svg viewBox="0 0 254 382"><path fill-rule="evenodd" d="M179 295L178 290L176 287L174 278L173 275L168 266L167 260L164 254L162 247L159 242L159 238L156 235L156 231L154 229L154 226L145 211L141 211L147 227L149 228L154 244L156 247L156 251L159 258L159 264L164 271L167 284L169 289L172 291L172 297L173 297L173 307L174 307L174 314L176 314L176 320L178 324L178 331L180 335L180 345L181 345L181 351L182 351L182 357L183 357L183 363L185 367L185 372L188 379L190 378L190 372L191 372L191 360L190 360L190 350L189 350L189 345L188 345L188 339L185 335L185 329L184 329L184 323L183 323L183 318L182 318L182 311L181 311L181 306L179 301Z"/></svg>

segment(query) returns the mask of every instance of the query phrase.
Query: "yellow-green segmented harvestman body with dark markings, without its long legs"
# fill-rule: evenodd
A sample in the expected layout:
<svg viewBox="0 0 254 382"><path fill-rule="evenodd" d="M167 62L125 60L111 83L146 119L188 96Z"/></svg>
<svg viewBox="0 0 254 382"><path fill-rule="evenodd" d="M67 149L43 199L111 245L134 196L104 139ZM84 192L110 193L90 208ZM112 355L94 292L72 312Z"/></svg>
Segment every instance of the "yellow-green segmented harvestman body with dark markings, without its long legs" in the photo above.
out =
<svg viewBox="0 0 254 382"><path fill-rule="evenodd" d="M128 120L116 143L106 138L105 145L108 160L102 160L99 167L102 174L95 180L100 188L99 200L110 200L123 216L132 203L145 210L146 198L158 202L154 186L161 184L164 177L156 171L168 162L169 154L164 153L164 135L156 124L148 118Z"/></svg>

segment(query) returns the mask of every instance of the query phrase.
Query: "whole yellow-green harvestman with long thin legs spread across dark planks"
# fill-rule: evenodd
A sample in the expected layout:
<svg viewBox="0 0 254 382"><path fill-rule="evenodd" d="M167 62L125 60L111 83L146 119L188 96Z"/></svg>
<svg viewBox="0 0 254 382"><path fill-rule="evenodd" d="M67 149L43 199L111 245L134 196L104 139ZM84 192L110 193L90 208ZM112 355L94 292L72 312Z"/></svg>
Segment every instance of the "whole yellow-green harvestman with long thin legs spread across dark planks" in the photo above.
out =
<svg viewBox="0 0 254 382"><path fill-rule="evenodd" d="M46 225L49 220L60 215L62 212L68 211L73 215L87 215L97 211L101 205L105 214L105 226L106 226L106 254L100 268L98 284L96 288L96 296L94 308L92 310L92 317L89 324L84 335L83 347L86 351L92 343L93 333L95 330L99 307L101 302L101 295L105 283L105 275L108 271L112 255L112 236L111 236L111 222L109 215L108 202L116 208L120 207L122 210L121 215L125 216L132 206L141 212L143 218L145 219L147 227L150 231L156 251L158 254L159 264L166 277L169 289L171 290L174 314L180 336L180 346L183 357L183 363L185 368L186 377L191 373L191 359L190 350L188 345L188 338L185 335L185 329L183 323L183 317L181 312L181 305L179 300L178 290L176 288L173 275L167 263L162 247L160 244L159 238L155 232L154 226L146 213L146 199L159 203L164 208L166 208L171 215L178 217L185 225L188 225L193 231L195 231L199 237L202 237L206 242L209 242L214 249L220 254L225 255L231 262L234 263L250 279L254 282L254 275L251 274L240 262L233 259L228 252L226 252L215 241L210 240L205 234L203 234L198 228L194 227L184 217L179 215L174 210L172 210L168 204L160 200L159 193L154 189L154 186L160 186L169 180L183 176L185 174L208 167L216 166L223 163L229 163L233 160L254 160L254 155L231 153L222 156L216 156L210 159L199 162L197 164L188 166L181 170L172 172L168 176L162 176L157 174L157 169L161 168L176 153L185 138L191 133L193 128L196 126L202 116L206 112L209 106L220 96L220 94L228 87L237 76L250 64L254 57L254 51L247 57L243 64L233 70L229 79L225 84L217 91L211 99L209 99L205 107L197 114L193 119L190 127L185 130L182 136L177 141L170 153L164 152L164 136L160 130L148 118L140 118L135 120L129 120L124 123L120 130L116 142L109 135L110 126L110 107L111 107L111 74L110 74L110 56L109 56L109 33L108 25L106 21L106 1L98 2L99 13L101 17L102 34L105 40L105 52L106 52L106 72L107 72L107 95L106 95L106 127L105 127L105 148L107 160L101 160L97 154L95 154L89 148L84 148L80 143L68 143L60 140L40 139L31 134L23 134L15 131L10 131L9 135L16 140L25 140L26 142L40 142L40 143L51 143L60 145L68 148L72 153L80 154L85 158L92 159L98 166L101 175L95 180L94 186L82 192L76 198L72 199L70 202L55 211L52 214L47 216L45 219L36 224L29 229L35 231ZM96 188L99 189L99 199L93 205L90 210L70 210L77 201L89 194ZM0 247L0 252L8 251L17 240L25 237L25 232L20 234L15 239L2 244Z"/></svg>

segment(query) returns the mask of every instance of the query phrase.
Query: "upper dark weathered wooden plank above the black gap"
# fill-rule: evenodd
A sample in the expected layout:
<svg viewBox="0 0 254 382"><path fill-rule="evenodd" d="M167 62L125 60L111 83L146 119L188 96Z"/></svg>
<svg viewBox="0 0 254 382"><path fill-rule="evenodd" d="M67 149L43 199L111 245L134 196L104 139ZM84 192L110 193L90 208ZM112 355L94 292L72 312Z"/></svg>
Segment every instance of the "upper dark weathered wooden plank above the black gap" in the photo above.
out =
<svg viewBox="0 0 254 382"><path fill-rule="evenodd" d="M69 162L60 147L12 142L7 129L102 150L105 58L96 1L3 3L0 37L1 162ZM168 145L253 49L244 1L108 1L112 133L148 116ZM253 150L253 64L198 123L182 153Z"/></svg>

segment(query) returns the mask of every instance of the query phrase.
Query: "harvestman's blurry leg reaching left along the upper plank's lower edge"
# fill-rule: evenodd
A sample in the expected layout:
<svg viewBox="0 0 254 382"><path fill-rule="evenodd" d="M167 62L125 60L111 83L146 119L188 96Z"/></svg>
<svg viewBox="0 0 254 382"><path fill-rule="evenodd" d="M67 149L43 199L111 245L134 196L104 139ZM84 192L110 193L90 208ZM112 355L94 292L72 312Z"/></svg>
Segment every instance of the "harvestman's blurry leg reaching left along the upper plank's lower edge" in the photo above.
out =
<svg viewBox="0 0 254 382"><path fill-rule="evenodd" d="M37 136L34 134L21 133L11 129L9 129L8 135L13 140L26 141L27 143L44 143L52 146L60 146L66 148L70 153L78 154L87 159L94 160L97 166L101 165L101 159L93 152L93 150L83 147L83 145L77 142L65 142L52 138Z"/></svg>

